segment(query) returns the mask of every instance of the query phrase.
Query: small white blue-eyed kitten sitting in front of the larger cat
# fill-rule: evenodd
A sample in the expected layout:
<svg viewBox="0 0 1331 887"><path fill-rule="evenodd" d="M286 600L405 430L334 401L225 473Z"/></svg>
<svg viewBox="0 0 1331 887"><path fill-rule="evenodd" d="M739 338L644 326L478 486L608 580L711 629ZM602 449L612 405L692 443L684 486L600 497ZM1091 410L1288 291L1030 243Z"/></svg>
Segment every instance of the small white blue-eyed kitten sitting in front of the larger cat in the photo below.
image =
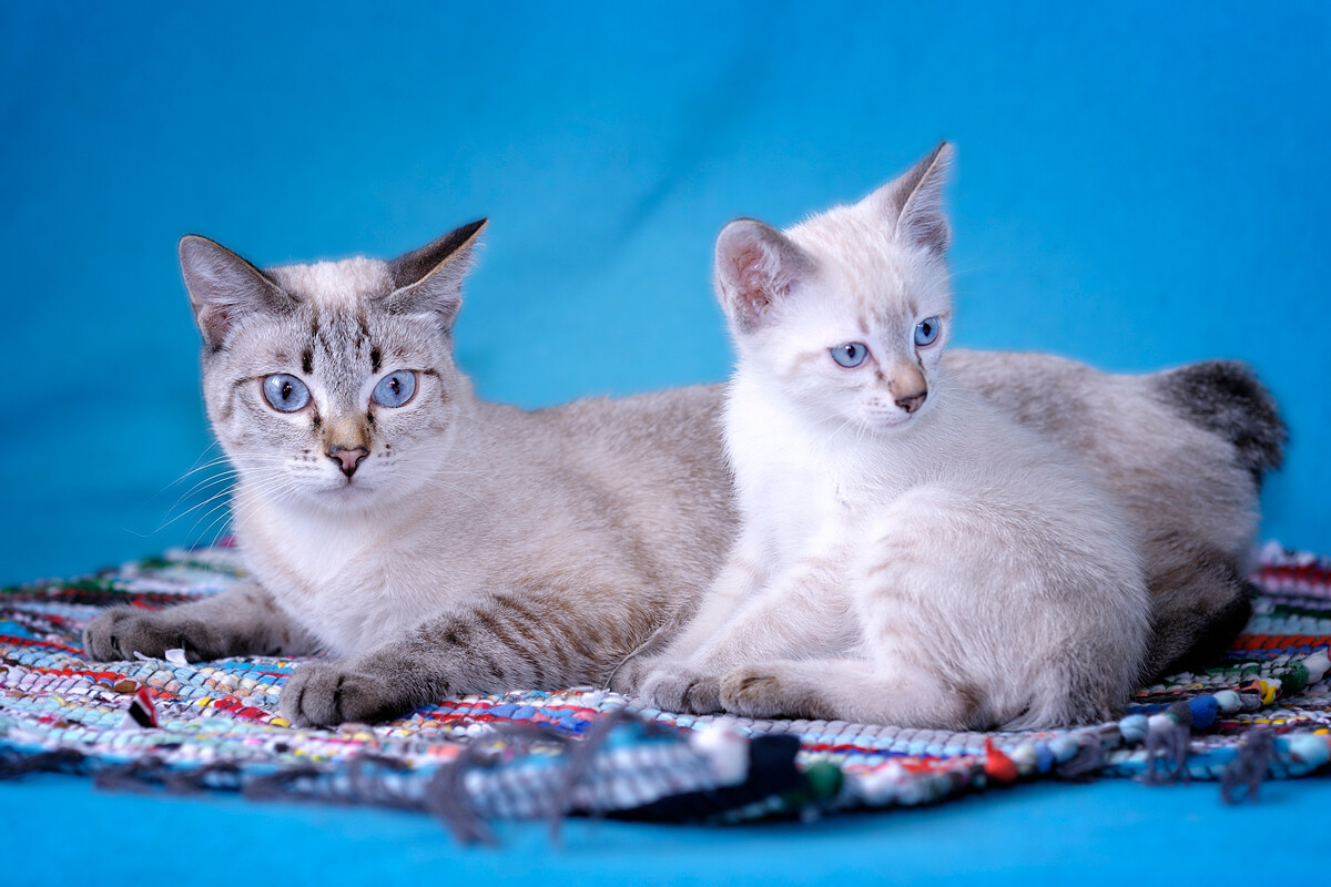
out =
<svg viewBox="0 0 1331 887"><path fill-rule="evenodd" d="M937 729L1109 718L1150 596L1125 511L940 360L944 144L855 206L716 245L741 515L643 681L666 709Z"/></svg>

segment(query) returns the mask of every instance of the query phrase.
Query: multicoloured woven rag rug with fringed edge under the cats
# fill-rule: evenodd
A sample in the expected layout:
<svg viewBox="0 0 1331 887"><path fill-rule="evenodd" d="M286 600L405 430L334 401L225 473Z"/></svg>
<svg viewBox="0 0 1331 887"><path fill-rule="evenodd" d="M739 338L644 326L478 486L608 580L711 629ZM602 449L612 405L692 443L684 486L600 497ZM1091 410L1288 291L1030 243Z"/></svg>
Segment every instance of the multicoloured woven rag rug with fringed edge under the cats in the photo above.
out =
<svg viewBox="0 0 1331 887"><path fill-rule="evenodd" d="M102 608L196 600L238 573L234 551L209 548L0 590L0 777L390 805L486 839L495 818L809 818L1057 778L1211 779L1242 801L1263 779L1326 774L1331 757L1331 561L1275 544L1223 660L1138 693L1118 721L1042 733L695 718L591 689L295 729L277 701L299 660L84 653L83 626Z"/></svg>

